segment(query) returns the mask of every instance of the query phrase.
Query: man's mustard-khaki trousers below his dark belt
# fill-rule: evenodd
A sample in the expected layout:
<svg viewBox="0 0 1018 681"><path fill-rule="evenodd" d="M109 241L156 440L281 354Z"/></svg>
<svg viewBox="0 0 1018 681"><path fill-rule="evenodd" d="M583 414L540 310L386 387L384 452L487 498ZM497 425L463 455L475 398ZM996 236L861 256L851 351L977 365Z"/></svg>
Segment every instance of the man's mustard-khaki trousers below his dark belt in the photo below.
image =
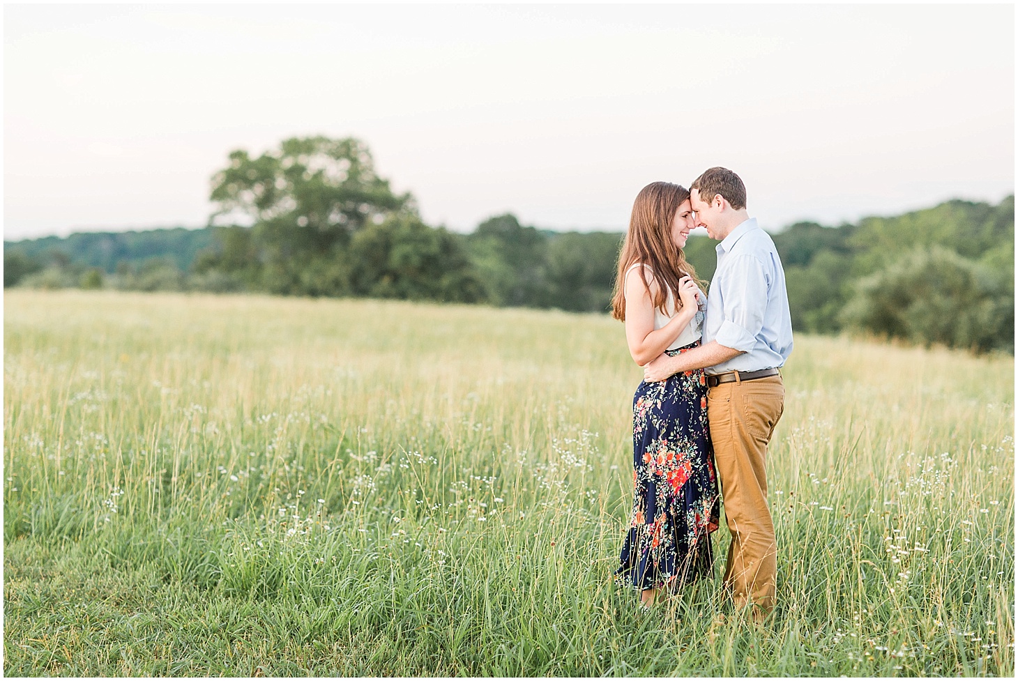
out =
<svg viewBox="0 0 1018 681"><path fill-rule="evenodd" d="M774 607L778 545L767 502L767 446L785 407L780 376L723 383L708 393L708 419L732 534L725 585L737 608Z"/></svg>

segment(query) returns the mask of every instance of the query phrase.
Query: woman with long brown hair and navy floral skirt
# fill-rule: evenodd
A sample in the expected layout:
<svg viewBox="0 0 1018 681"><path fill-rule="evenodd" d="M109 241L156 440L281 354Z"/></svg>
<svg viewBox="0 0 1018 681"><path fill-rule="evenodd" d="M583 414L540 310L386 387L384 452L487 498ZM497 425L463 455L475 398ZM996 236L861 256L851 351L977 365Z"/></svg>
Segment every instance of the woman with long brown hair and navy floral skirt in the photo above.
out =
<svg viewBox="0 0 1018 681"><path fill-rule="evenodd" d="M633 204L619 254L612 316L643 365L699 345L706 296L682 252L695 226L689 191L653 182ZM644 607L711 569L718 487L702 370L640 383L633 396L633 510L616 570Z"/></svg>

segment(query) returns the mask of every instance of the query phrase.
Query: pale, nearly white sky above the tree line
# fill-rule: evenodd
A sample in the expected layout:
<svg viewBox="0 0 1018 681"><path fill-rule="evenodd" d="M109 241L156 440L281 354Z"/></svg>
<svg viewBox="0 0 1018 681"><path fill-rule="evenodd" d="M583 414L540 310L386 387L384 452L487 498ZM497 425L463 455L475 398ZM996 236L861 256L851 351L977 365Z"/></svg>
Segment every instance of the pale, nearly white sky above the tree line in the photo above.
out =
<svg viewBox="0 0 1018 681"><path fill-rule="evenodd" d="M1013 5L10 5L4 237L201 226L352 135L426 221L623 230L722 165L776 229L1014 191Z"/></svg>

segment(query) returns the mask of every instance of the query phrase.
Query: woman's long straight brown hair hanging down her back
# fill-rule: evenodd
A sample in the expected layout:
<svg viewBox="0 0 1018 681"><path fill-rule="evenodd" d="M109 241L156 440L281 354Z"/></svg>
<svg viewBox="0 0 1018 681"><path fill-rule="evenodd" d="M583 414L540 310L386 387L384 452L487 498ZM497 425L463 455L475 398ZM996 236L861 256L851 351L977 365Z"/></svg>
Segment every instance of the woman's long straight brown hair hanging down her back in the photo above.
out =
<svg viewBox="0 0 1018 681"><path fill-rule="evenodd" d="M668 291L672 291L675 298L676 311L681 307L682 301L675 293L679 290L679 279L689 276L695 281L696 272L686 262L682 248L672 240L672 222L679 206L688 197L688 189L671 182L651 182L636 194L615 276L615 291L612 294L612 317L615 319L621 322L626 320L626 272L634 263L648 266L658 282L658 291L653 298L655 307L664 315L669 314L665 309ZM646 270L639 268L639 276L649 291Z"/></svg>

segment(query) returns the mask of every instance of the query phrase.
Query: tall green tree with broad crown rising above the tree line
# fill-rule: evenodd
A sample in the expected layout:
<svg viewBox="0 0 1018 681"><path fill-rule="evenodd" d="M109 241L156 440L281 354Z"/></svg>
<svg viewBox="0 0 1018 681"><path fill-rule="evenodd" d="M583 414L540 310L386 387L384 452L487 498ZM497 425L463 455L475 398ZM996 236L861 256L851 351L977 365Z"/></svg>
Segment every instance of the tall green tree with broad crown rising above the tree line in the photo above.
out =
<svg viewBox="0 0 1018 681"><path fill-rule="evenodd" d="M342 277L320 261L343 260L352 236L369 225L415 214L412 196L394 192L353 137L291 137L259 157L231 152L212 178L211 198L211 222L248 222L250 235L224 232L221 260L207 256L202 267L239 265L249 284L276 293L340 293ZM308 273L319 277L308 281Z"/></svg>

